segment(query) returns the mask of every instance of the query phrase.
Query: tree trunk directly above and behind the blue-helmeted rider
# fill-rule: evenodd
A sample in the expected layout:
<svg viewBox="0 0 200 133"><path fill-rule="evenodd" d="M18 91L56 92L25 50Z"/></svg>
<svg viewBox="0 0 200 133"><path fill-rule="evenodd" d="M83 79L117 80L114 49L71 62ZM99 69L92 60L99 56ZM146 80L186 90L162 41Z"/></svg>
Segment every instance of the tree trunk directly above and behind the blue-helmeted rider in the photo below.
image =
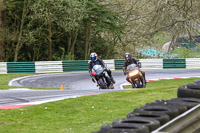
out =
<svg viewBox="0 0 200 133"><path fill-rule="evenodd" d="M89 42L90 42L90 25L87 24L85 33L85 60L88 59Z"/></svg>

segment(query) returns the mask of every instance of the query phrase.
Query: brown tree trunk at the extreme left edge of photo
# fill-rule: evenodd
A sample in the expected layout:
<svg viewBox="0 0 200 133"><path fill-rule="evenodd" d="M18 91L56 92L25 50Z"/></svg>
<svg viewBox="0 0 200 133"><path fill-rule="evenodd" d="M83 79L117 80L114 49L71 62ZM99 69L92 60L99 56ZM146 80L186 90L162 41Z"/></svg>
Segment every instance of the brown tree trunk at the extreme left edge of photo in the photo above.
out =
<svg viewBox="0 0 200 133"><path fill-rule="evenodd" d="M3 60L4 52L3 52L3 37L2 37L2 23L3 23L3 13L2 13L2 8L3 8L3 0L0 0L0 61Z"/></svg>

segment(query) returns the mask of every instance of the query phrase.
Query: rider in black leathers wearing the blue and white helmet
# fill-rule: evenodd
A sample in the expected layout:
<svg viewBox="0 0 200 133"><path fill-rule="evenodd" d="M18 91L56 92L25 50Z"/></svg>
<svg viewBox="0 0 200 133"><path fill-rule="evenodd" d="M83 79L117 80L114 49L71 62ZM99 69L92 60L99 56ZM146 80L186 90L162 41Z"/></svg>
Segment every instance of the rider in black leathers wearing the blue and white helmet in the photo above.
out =
<svg viewBox="0 0 200 133"><path fill-rule="evenodd" d="M106 68L105 63L100 58L97 57L97 54L91 53L90 58L91 58L91 61L89 62L89 73L92 74L92 68L94 65L101 65L105 69L105 71L108 73L108 76L110 77L111 81L115 83L111 70ZM93 79L92 81L95 82Z"/></svg>

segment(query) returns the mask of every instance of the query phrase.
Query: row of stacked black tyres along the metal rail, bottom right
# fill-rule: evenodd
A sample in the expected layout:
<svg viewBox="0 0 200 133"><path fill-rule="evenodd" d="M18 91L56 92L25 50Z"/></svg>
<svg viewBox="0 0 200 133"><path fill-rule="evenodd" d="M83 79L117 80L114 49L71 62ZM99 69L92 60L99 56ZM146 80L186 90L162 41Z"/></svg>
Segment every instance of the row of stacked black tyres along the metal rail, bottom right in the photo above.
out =
<svg viewBox="0 0 200 133"><path fill-rule="evenodd" d="M200 104L200 80L181 86L177 92L178 98L156 100L143 107L136 108L127 114L126 118L114 120L111 124L103 125L95 133L150 133Z"/></svg>

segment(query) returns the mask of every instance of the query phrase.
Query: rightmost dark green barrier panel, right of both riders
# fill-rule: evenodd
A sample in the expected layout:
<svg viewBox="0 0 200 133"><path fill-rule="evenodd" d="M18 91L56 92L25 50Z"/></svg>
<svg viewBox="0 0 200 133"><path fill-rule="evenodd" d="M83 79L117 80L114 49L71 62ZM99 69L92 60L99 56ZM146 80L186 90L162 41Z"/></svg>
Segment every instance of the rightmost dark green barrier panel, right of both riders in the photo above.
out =
<svg viewBox="0 0 200 133"><path fill-rule="evenodd" d="M163 59L163 69L186 68L185 59Z"/></svg>

